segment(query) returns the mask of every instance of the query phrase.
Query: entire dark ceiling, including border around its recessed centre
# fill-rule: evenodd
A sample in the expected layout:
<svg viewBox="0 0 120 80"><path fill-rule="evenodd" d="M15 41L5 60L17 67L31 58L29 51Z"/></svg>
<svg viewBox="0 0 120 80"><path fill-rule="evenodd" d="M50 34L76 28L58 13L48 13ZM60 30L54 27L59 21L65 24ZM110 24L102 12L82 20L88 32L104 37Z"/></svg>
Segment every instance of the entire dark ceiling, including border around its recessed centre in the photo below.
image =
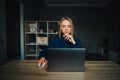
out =
<svg viewBox="0 0 120 80"><path fill-rule="evenodd" d="M106 6L115 0L17 0L23 3L35 3L42 7L84 7Z"/></svg>

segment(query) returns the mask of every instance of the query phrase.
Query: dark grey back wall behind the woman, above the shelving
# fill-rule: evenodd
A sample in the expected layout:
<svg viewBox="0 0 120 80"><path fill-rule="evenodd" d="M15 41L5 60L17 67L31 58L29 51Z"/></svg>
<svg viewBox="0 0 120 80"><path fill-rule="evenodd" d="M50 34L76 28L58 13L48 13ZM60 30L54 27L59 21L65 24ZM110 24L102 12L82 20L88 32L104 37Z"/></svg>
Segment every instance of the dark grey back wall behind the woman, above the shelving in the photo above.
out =
<svg viewBox="0 0 120 80"><path fill-rule="evenodd" d="M76 33L88 52L96 52L97 44L106 36L106 10L104 7L48 8L39 10L39 20L73 19Z"/></svg>

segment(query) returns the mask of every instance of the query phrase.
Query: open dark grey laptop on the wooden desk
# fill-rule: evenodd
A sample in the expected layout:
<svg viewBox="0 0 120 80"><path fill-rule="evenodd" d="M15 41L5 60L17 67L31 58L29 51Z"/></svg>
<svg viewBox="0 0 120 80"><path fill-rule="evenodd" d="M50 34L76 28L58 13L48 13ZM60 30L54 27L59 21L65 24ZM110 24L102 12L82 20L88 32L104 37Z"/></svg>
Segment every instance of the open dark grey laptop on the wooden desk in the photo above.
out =
<svg viewBox="0 0 120 80"><path fill-rule="evenodd" d="M48 72L83 72L86 48L48 48Z"/></svg>

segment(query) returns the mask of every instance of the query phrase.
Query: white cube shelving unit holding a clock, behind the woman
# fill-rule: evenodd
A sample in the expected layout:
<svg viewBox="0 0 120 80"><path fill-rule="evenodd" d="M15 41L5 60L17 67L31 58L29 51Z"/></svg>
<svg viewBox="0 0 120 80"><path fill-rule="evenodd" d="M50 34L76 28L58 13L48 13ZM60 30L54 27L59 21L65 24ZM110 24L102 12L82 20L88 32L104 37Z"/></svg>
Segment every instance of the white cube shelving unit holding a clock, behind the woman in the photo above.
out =
<svg viewBox="0 0 120 80"><path fill-rule="evenodd" d="M58 34L58 21L25 21L24 29L25 58L37 59L52 37Z"/></svg>

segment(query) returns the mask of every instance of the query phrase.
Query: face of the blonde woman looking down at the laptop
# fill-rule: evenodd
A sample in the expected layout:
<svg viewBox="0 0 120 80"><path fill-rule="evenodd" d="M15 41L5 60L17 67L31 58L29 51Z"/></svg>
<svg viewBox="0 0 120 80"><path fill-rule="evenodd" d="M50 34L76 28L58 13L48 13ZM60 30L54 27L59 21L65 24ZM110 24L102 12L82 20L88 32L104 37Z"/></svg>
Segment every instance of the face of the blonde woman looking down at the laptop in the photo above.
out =
<svg viewBox="0 0 120 80"><path fill-rule="evenodd" d="M60 25L60 28L61 28L61 31L63 33L63 35L68 35L71 33L71 24L68 20L64 20L61 22L61 25Z"/></svg>

